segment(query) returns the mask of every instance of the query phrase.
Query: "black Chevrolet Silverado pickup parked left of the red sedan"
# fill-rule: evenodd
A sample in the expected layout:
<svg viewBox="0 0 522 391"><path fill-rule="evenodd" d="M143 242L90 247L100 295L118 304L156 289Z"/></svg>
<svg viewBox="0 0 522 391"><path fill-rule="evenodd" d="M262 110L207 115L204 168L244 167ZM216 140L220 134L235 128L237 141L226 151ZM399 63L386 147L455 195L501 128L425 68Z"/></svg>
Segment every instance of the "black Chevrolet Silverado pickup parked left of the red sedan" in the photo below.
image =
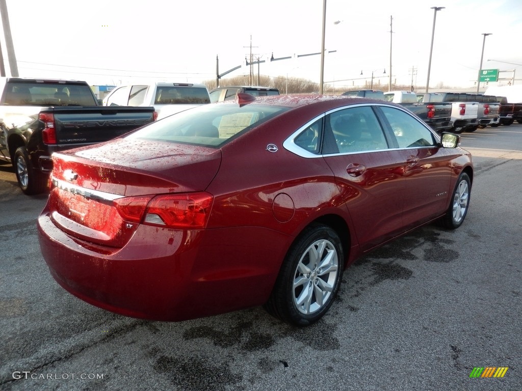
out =
<svg viewBox="0 0 522 391"><path fill-rule="evenodd" d="M85 81L0 78L0 163L26 194L48 187L53 152L108 141L155 120L153 107L103 107Z"/></svg>

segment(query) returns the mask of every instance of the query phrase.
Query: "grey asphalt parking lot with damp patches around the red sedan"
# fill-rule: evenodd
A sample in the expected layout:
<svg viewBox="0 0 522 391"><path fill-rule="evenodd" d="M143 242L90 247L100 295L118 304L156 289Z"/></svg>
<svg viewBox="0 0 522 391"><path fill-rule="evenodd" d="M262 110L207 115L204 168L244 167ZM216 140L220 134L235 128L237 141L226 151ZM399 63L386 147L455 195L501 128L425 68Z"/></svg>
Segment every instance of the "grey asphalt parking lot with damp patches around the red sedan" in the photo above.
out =
<svg viewBox="0 0 522 391"><path fill-rule="evenodd" d="M69 295L38 247L45 196L0 166L0 389L522 389L522 158L490 155L474 158L462 227L428 225L359 260L305 328L260 308L148 322Z"/></svg>

